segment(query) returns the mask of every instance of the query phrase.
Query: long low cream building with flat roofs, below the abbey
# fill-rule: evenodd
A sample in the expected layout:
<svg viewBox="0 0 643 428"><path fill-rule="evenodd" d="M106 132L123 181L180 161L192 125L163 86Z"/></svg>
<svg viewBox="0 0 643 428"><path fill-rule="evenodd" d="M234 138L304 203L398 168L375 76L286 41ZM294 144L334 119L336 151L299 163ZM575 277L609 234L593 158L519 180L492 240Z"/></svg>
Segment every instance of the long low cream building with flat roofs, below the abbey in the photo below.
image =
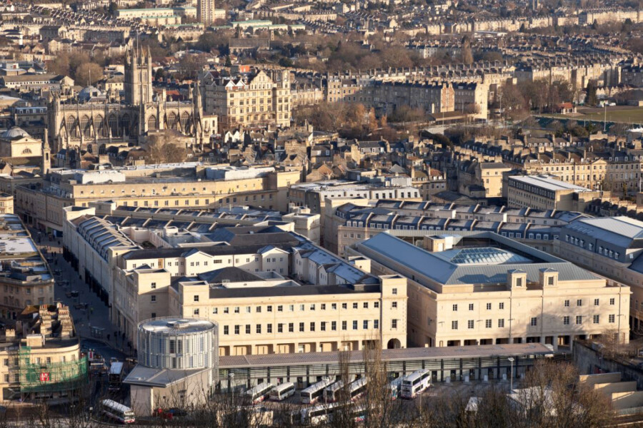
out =
<svg viewBox="0 0 643 428"><path fill-rule="evenodd" d="M57 170L40 187L16 186L15 206L16 212L30 225L57 231L63 228L64 207L87 207L101 200L130 207L256 205L286 211L287 188L291 183L298 183L299 177L297 170L204 167L198 163L95 171Z"/></svg>

